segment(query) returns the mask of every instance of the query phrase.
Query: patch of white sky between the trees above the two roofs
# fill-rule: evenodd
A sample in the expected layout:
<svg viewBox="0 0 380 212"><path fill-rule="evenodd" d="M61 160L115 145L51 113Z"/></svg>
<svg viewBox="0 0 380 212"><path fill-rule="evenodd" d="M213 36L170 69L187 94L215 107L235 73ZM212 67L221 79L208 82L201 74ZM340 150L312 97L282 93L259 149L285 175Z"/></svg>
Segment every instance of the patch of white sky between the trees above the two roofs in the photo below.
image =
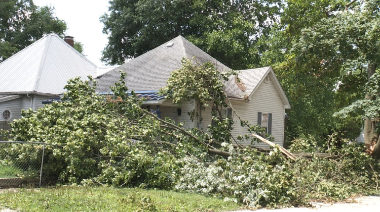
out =
<svg viewBox="0 0 380 212"><path fill-rule="evenodd" d="M56 16L67 24L66 35L84 44L87 59L97 66L104 65L100 61L101 51L108 40L99 17L108 11L108 0L33 0L33 3L39 7L53 6Z"/></svg>

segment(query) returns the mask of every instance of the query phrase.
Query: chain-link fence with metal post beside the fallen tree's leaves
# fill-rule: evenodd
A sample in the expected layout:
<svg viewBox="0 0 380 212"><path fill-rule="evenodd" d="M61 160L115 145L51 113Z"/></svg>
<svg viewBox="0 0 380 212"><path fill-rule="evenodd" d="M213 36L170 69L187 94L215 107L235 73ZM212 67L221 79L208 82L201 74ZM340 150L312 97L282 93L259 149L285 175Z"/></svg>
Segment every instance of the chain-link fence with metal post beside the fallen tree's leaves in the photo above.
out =
<svg viewBox="0 0 380 212"><path fill-rule="evenodd" d="M53 184L58 176L44 166L47 151L63 146L27 142L0 141L0 187L17 187L33 184L34 186Z"/></svg>

